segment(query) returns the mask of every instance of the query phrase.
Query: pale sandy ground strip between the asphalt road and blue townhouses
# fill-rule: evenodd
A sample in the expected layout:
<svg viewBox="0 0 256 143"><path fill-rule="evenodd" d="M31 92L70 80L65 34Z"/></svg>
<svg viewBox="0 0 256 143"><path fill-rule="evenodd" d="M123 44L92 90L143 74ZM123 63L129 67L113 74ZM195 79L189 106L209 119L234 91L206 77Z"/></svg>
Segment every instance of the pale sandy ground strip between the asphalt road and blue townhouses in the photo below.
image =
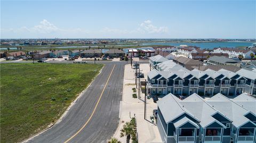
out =
<svg viewBox="0 0 256 143"><path fill-rule="evenodd" d="M149 64L141 64L140 65L141 72L145 74L145 78L147 77L147 73L149 72ZM155 123L150 122L150 115L153 115L153 110L157 109L157 104L153 102L152 99L147 99L147 115L146 119L144 119L144 98L145 95L141 93L141 99L132 98L132 94L134 94L132 88L135 88L135 70L131 69L130 64L125 65L124 70L124 85L123 85L123 100L120 104L120 112L119 112L119 125L113 137L119 139L121 142L126 142L126 138L120 138L121 129L125 122L129 122L131 120L130 117L135 115L137 119L137 130L138 130L138 138L139 142L162 142L158 128ZM145 81L141 79L141 81ZM138 96L138 88L137 88L137 96ZM130 141L131 142L131 141Z"/></svg>

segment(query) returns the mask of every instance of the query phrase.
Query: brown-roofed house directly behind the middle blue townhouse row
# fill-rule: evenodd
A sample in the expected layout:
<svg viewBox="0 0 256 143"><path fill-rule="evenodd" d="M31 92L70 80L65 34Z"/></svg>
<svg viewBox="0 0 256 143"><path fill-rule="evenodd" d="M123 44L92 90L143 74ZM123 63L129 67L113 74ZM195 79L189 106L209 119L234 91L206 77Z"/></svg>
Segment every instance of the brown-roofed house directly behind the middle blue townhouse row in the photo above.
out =
<svg viewBox="0 0 256 143"><path fill-rule="evenodd" d="M203 63L193 60L191 58L187 58L187 57L183 57L183 56L179 56L179 57L175 57L173 59L174 62L176 62L177 64L182 65L184 68L188 69L188 70L193 70L192 66L202 66Z"/></svg>

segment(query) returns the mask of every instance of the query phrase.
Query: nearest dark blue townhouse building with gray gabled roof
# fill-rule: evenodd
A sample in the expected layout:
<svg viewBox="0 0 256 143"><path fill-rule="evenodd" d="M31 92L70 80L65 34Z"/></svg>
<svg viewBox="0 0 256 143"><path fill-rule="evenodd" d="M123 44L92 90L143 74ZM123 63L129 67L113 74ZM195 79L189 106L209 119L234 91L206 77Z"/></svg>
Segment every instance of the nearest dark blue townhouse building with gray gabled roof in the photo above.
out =
<svg viewBox="0 0 256 143"><path fill-rule="evenodd" d="M245 94L233 100L222 94L207 100L168 94L157 102L157 128L167 143L254 143L255 105Z"/></svg>

